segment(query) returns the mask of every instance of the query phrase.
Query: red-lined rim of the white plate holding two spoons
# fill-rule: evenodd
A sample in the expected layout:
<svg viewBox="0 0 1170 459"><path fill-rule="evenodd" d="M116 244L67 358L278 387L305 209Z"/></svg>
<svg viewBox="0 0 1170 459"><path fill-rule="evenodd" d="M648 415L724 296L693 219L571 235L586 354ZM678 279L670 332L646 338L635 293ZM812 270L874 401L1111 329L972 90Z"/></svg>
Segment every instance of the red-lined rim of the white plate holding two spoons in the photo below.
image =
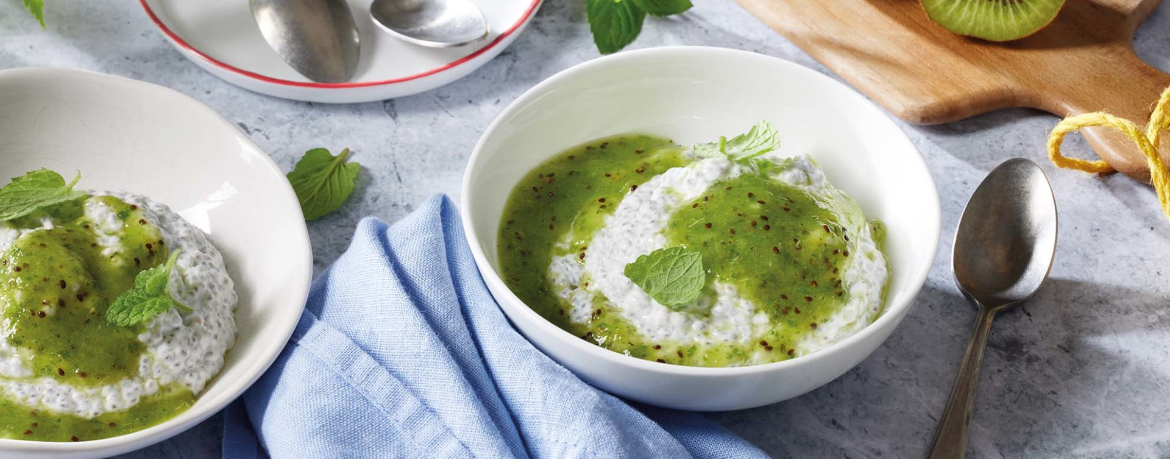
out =
<svg viewBox="0 0 1170 459"><path fill-rule="evenodd" d="M174 41L176 43L178 43L180 47L183 47L183 49L186 49L186 50L191 52L192 54L199 56L204 61L207 61L207 62L214 64L215 67L219 67L221 69L225 69L225 70L239 74L239 75L247 76L247 77L253 78L253 80L260 80L260 81L266 82L266 83L283 84L283 85L291 85L291 87L301 87L301 88L342 89L342 88L367 88L367 87L376 87L376 85L404 83L404 82L407 82L407 81L411 81L411 80L421 78L424 76L431 76L431 75L438 74L440 71L443 71L443 70L447 70L447 69L452 69L452 68L459 67L459 66L461 66L463 63L467 63L468 61L470 61L470 60L480 56L481 54L487 53L489 49L495 48L496 46L500 44L500 42L502 42L504 39L507 39L508 35L511 35L514 32L516 32L516 29L518 29L519 26L524 25L524 22L528 21L529 16L531 16L532 13L536 12L536 7L541 5L541 0L532 0L532 5L529 5L528 11L525 11L524 14L521 15L519 21L516 21L516 23L514 23L511 27L509 27L507 30L504 30L502 34L500 34L500 36L496 36L496 39L493 40L490 43L488 43L488 46L475 50L475 53L468 54L468 55L466 55L463 57L460 57L459 60L456 60L454 62L447 63L447 64L445 64L442 67L433 68L433 69L424 71L421 74L415 74L415 75L411 75L411 76L404 76L404 77L393 78L393 80L367 81L367 82L358 82L358 83L316 83L316 82L302 82L302 81L280 80L280 78L273 78L270 76L260 75L257 73L248 71L248 70L241 69L239 67L230 66L230 64L228 64L226 62L218 61L214 57L204 54L204 52L200 52L199 49L195 49L195 47L191 46L185 40L183 40L183 37L180 37L178 34L176 34L173 30L171 30L171 28L166 27L166 25L163 23L163 21L160 19L158 19L158 15L156 15L154 12L150 8L150 5L146 5L146 0L138 0L138 4L142 5L143 9L146 11L146 15L150 16L150 20L154 21L154 26L158 26L158 28L160 30L163 30L163 33L166 34L166 36L168 39L171 39L172 41Z"/></svg>

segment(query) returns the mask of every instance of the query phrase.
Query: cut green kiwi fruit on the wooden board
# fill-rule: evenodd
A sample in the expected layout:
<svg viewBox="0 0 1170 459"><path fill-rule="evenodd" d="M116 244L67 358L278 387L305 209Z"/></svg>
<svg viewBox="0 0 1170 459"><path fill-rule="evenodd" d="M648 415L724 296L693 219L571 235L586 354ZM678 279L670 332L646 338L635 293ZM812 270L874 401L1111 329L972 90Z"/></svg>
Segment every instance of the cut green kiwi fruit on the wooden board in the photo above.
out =
<svg viewBox="0 0 1170 459"><path fill-rule="evenodd" d="M959 35L1010 41L1034 34L1065 0L922 0L931 21Z"/></svg>

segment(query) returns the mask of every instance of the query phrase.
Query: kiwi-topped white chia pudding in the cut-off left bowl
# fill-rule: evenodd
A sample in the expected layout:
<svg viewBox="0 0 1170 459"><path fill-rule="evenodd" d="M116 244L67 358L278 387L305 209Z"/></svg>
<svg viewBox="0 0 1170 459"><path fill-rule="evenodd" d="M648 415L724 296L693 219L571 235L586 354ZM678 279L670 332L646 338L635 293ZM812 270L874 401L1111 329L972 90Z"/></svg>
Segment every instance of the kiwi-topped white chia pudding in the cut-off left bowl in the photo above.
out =
<svg viewBox="0 0 1170 459"><path fill-rule="evenodd" d="M167 262L173 307L132 326L106 309ZM0 222L0 436L80 441L188 409L235 342L236 294L204 233L167 206L92 192Z"/></svg>

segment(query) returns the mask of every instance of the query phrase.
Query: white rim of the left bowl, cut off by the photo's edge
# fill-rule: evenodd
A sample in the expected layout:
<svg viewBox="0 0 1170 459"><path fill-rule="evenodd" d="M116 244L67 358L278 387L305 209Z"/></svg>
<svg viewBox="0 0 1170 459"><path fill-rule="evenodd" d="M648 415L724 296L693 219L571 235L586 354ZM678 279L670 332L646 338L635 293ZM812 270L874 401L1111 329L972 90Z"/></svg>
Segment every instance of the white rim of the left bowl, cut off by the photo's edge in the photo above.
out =
<svg viewBox="0 0 1170 459"><path fill-rule="evenodd" d="M245 145L243 150L250 150L249 152L259 153L259 155L252 155L252 157L260 158L260 160L263 162L264 166L267 166L269 171L271 171L277 176L284 174L284 172L281 171L280 166L276 164L275 160L273 160L273 157L269 156L268 152L266 152L254 142L252 142L250 138L243 136L239 131L239 129L235 128L235 125L233 125L229 121L227 121L227 118L223 118L223 116L215 112L215 110L212 110L202 102L199 102L192 98L191 96L187 96L177 90L161 87L154 83L147 83L144 81L126 78L116 75L106 75L90 70L55 68L55 67L30 67L30 68L0 70L0 78L6 76L8 77L20 76L21 74L28 74L30 77L37 80L41 77L41 75L37 74L47 74L47 75L64 74L68 75L68 77L104 81L106 84L125 84L131 87L132 90L147 90L156 93L156 95L153 95L152 97L172 97L174 103L186 104L190 110L200 112L201 116L207 116L211 119L214 119L216 124L219 124L222 129L225 129L225 132L230 132L230 135L234 136L236 142ZM284 198L291 199L294 201L296 200L296 193L292 192L292 185L285 183L283 186L283 193ZM300 208L300 206L297 208ZM302 246L302 249L304 249L304 252L308 254L304 265L305 267L308 267L308 269L305 269L307 279L300 287L297 286L291 287L294 289L300 288L302 290L302 292L294 290L295 293L294 296L301 297L301 303L297 307L301 308L301 310L303 310L304 303L309 299L309 286L310 283L312 283L312 246L309 242L308 224L305 224L303 219L301 220L301 226L290 230L292 231L300 230L298 233L304 234L304 240L303 240L304 245ZM233 316L234 315L235 313L233 313ZM290 315L290 317L292 315ZM242 396L245 391L252 388L252 385L255 384L261 376L268 372L268 369L273 365L273 363L276 362L276 358L281 355L282 351L284 351L284 347L285 344L288 344L289 338L292 337L292 331L296 330L296 324L301 317L301 313L297 313L295 317L296 320L288 321L288 323L284 324L283 329L280 330L280 336L282 336L283 340L278 342L278 345L275 345L275 349L273 349L271 348L273 344L269 344L269 349L264 349L264 355L266 355L264 358L267 359L267 362L259 368L259 371L255 371L253 375L249 375L248 377L245 378L239 378L235 381L225 381L223 383L227 384L227 388L222 392L220 392L218 397L207 399L208 409L206 409L205 412L198 413L193 418L184 423L186 424L184 426L180 426L179 423L176 422L176 419L178 419L179 416L183 416L183 413L191 412L194 409L194 405L192 405L192 407L187 409L186 411L180 412L176 417L164 420L159 424L116 437L101 438L96 440L76 441L76 443L0 438L0 451L11 451L20 453L54 453L54 452L84 453L87 451L97 451L97 450L112 451L116 448L124 447L129 444L135 444L133 447L140 448L157 444L159 441L164 441L179 433L186 432L187 430L191 430L191 427L194 427L197 424L207 420L215 413L223 410L228 404L234 402L236 398ZM236 344L239 344L239 337L236 338L236 341L238 341ZM228 351L230 352L230 349ZM240 361L240 362L243 363L246 361ZM222 372L223 368L221 368L220 372L218 372L215 376L212 377L212 379L208 381L209 382L218 381L220 374ZM197 396L195 403L204 400L202 396L204 395Z"/></svg>

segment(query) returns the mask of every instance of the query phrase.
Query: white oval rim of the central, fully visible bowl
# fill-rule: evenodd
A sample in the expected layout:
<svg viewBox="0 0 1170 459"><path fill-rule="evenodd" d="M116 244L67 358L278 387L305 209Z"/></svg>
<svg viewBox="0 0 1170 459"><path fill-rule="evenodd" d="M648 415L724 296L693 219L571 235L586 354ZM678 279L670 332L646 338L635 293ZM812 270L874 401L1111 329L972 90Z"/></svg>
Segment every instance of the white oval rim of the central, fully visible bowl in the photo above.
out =
<svg viewBox="0 0 1170 459"><path fill-rule="evenodd" d="M653 371L653 372L660 372L660 374L670 374L670 375L681 375L681 376L687 376L687 375L693 375L693 376L739 376L739 375L757 375L757 374L763 374L763 372L769 372L769 371L782 370L782 369L790 368L790 366L799 366L799 365L806 365L806 364L814 364L814 363L817 363L817 362L819 362L821 359L827 358L827 356L830 356L832 354L840 352L842 349L851 348L851 347L855 345L858 342L860 342L861 340L863 340L866 336L873 335L873 334L878 333L878 330L881 329L881 328L883 328L883 326L886 323L900 320L901 318L900 316L902 315L900 313L902 313L906 309L909 309L910 304L914 302L914 299L917 297L918 292L922 289L922 286L925 283L927 275L930 273L930 268L931 268L931 266L934 263L934 259L938 254L938 241L940 241L940 237L941 237L941 226L942 226L941 213L942 212L941 212L941 208L940 208L940 205L938 205L938 189L935 185L934 178L930 176L930 170L927 167L925 160L922 159L922 153L921 152L918 152L918 155L916 155L914 158L911 158L910 159L911 164L908 164L908 165L909 166L914 166L916 169L920 169L922 172L925 173L927 184L929 185L930 191L931 191L931 193L929 193L929 198L930 198L932 205L929 207L929 211L932 212L934 218L931 218L930 221L927 221L925 224L930 225L929 230L930 230L931 233L935 233L936 237L931 238L930 256L928 259L930 261L927 262L924 266L917 267L916 269L913 269L913 270L907 272L907 273L902 273L903 275L908 275L909 279L910 279L910 281L911 281L911 285L915 286L913 288L913 290L910 292L910 294L907 295L907 299L904 301L902 301L902 302L900 302L897 304L890 304L890 303L883 304L885 309L883 309L881 316L879 316L878 320L875 320L873 323L870 323L870 324L866 326L865 328L862 328L861 331L858 331L856 334L854 334L854 335L852 335L852 336L849 336L849 337L847 337L845 340L838 341L837 343L833 343L832 345L830 345L830 347L827 347L825 349L818 350L818 351L808 354L808 355L804 355L804 356L800 356L800 357L797 357L797 358L792 358L792 359L789 359L789 361L783 361L783 362L772 362L772 363L763 363L763 364L745 365L745 366L663 365L661 363L651 362L651 361L641 359L641 358L638 358L638 357L631 357L631 356L627 356L625 354L614 352L612 350L604 349L604 348L598 347L596 344L590 344L590 343L587 343L587 342L578 338L577 336L573 336L569 331L565 331L564 329L562 329L562 328L552 324L552 322L549 322L546 318L542 317L532 308L528 307L528 304L524 301L522 301L518 296L516 296L516 294L511 290L511 288L508 287L508 285L503 282L503 280L500 278L500 273L497 273L496 269L493 268L493 265L488 261L487 255L483 253L483 247L480 244L480 239L479 239L479 237L475 235L475 232L474 232L474 225L472 224L473 218L472 218L472 215L467 211L468 208L470 208L468 199L470 199L469 197L472 196L470 184L472 184L473 169L480 162L480 157L483 153L483 145L486 143L486 139L489 138L491 135L494 135L496 132L496 130L500 129L501 123L503 123L504 119L509 118L514 112L516 112L517 110L519 110L522 107L525 107L529 103L534 102L539 96L543 96L550 88L556 88L562 82L571 80L571 78L574 78L576 75L578 73L580 73L580 71L593 69L593 68L597 68L597 67L620 66L624 62L636 61L636 60L640 60L640 59L644 59L644 57L648 57L648 56L691 55L690 57L694 59L695 54L698 54L698 55L702 55L702 54L725 54L725 55L734 55L736 59L756 60L756 61L768 61L771 64L779 64L780 67L785 68L785 71L793 71L793 73L798 73L798 74L805 74L810 78L814 78L814 80L815 78L820 78L820 80L827 81L827 82L830 82L831 85L835 85L835 87L839 87L840 89L845 90L845 93L848 94L851 97L853 97L853 100L860 107L862 107L863 110L874 111L874 112L876 112L876 115L879 115L883 119L886 119L886 122L889 123L888 128L897 131L897 136L896 136L897 142L904 143L906 148L913 150L914 152L918 152L918 149L916 146L914 146L914 143L910 142L909 137L906 136L906 132L902 131L902 129L900 129L897 126L897 124L894 123L893 119L890 119L889 115L886 115L886 112L883 112L881 109L879 109L878 105L875 105L868 98L866 98L865 96L862 96L860 93L858 93L853 88L849 88L849 87L845 85L844 83L841 83L841 82L839 82L837 80L833 80L832 77L830 77L830 76L827 76L825 74L821 74L821 73L819 73L817 70L810 69L807 67L804 67L804 66L800 66L800 64L797 64L794 62L790 62L790 61L786 61L786 60L783 60L783 59L779 59L779 57L773 57L773 56L769 56L769 55L764 55L764 54L758 54L758 53L752 53L752 52L745 52L745 50L739 50L739 49L717 48L717 47L698 47L698 46L695 46L695 47L691 47L691 46L675 46L675 47L647 48L647 49L621 52L621 53L612 54L612 55L608 55L608 56L598 57L598 59L594 59L594 60L591 60L591 61L578 63L578 64L572 66L572 67L570 67L570 68L567 68L565 70L562 70L562 71L557 73L556 75L552 75L551 77L549 77L549 78L542 81L541 83L536 84L531 89L524 91L524 94L522 94L519 97L517 97L510 104L508 104L508 107L503 111L501 111L500 115L496 116L495 119L493 119L491 124L488 125L488 129L486 129L483 131L483 135L480 136L480 141L476 142L475 149L472 151L472 156L470 156L470 158L468 158L467 170L463 172L463 184L462 184L462 190L461 190L462 198L460 199L461 200L460 213L461 213L461 215L463 218L463 232L467 233L467 240L468 240L468 245L472 247L472 254L475 258L476 265L481 268L480 273L483 276L490 278L493 281L500 282L500 285L504 286L504 289L507 290L507 299L505 300L507 301L512 301L512 302L518 303L518 304L523 304L524 306L523 308L517 308L517 309L519 309L518 314L522 315L525 320L528 320L530 322L534 322L535 327L541 328L544 331L549 331L550 335L558 336L563 342L566 342L569 345L576 348L577 350L584 351L585 354L587 354L587 355L590 355L592 357L601 358L601 359L605 359L605 361L608 361L611 363L619 364L619 365L633 366L633 368L638 368L638 369L641 369L641 370L647 370L647 371ZM501 210L501 212L503 210ZM486 267L486 269L484 269L484 267ZM504 309L504 313L507 315L507 313L508 313L507 307L503 306L502 302L500 302L498 300L497 300L497 303L500 303L500 308Z"/></svg>

